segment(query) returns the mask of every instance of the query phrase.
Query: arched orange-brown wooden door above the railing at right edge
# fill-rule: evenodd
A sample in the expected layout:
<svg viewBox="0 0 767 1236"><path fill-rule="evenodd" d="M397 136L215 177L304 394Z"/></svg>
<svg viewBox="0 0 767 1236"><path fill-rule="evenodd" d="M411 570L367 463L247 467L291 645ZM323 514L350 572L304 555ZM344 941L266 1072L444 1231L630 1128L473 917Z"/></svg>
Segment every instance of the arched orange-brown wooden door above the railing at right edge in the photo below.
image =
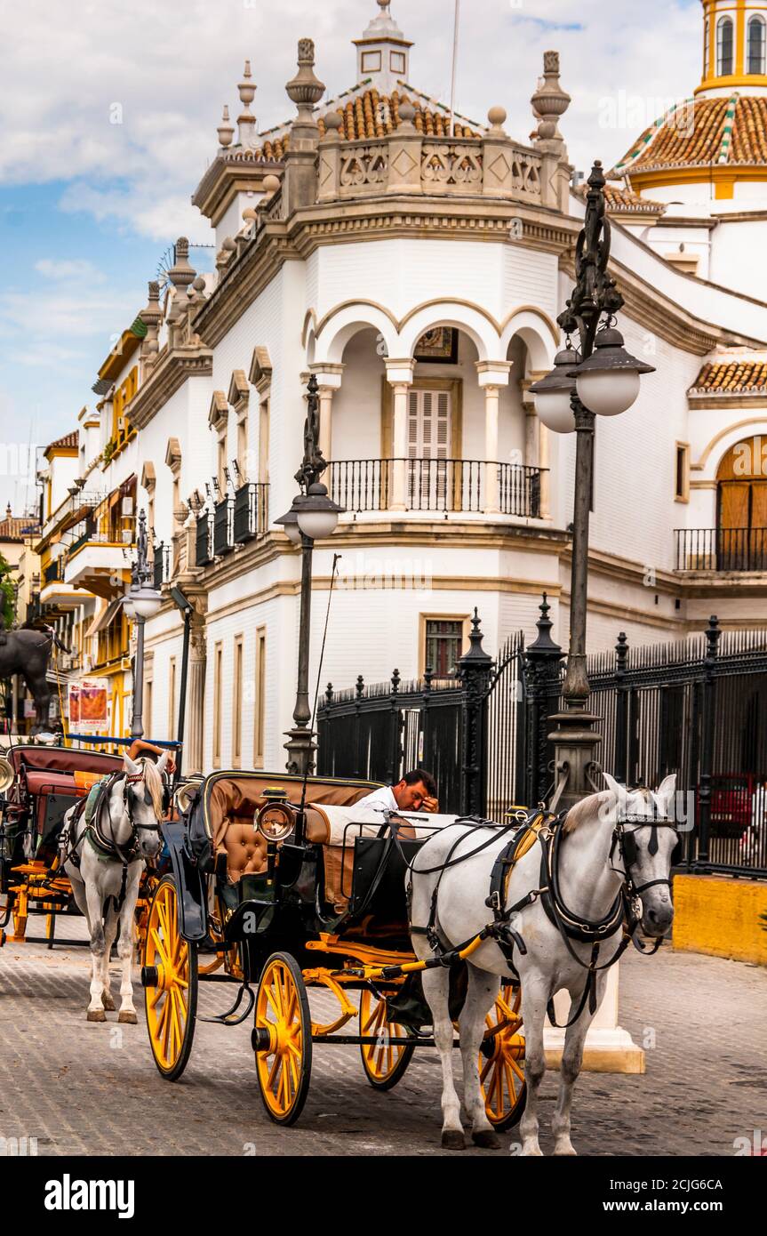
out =
<svg viewBox="0 0 767 1236"><path fill-rule="evenodd" d="M719 570L767 570L767 436L744 439L723 457L716 536Z"/></svg>

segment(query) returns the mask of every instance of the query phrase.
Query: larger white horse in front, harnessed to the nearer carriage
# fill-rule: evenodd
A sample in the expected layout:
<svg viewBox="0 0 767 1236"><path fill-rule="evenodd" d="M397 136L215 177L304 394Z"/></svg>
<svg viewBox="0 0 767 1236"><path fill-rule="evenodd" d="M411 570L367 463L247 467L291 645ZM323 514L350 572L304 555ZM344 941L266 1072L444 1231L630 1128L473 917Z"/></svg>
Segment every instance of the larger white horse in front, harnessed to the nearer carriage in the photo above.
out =
<svg viewBox="0 0 767 1236"><path fill-rule="evenodd" d="M571 1142L571 1104L573 1085L580 1072L587 1031L599 1007L606 984L604 967L621 944L622 902L625 886L634 904L636 920L645 936L660 943L673 918L669 871L672 852L678 837L669 818L676 789L676 774L668 776L655 794L650 790L627 791L604 774L609 790L594 794L569 810L561 829L556 863L557 905L571 911L583 925L604 921L609 931L599 939L594 957L592 943L566 939L547 917L541 896L536 895L524 908L511 915L510 927L519 939L513 944L513 963L519 973L525 1028L525 1079L527 1105L520 1124L522 1154L541 1154L539 1146L537 1099L546 1070L543 1056L543 1021L556 991L566 989L571 996L571 1012L562 1053L560 1095L552 1120L555 1154L576 1154ZM461 836L459 829L463 829ZM463 944L493 922L485 899L490 891L490 871L495 858L509 840L509 833L494 837L490 844L473 858L456 863L471 854L493 832L473 829L456 823L436 833L416 855L411 883L411 923L426 927L430 922L432 896L436 892L436 933L442 948ZM456 840L458 844L456 845ZM453 848L455 847L455 848ZM451 853L452 852L452 853ZM508 912L527 894L550 884L541 879L542 850L536 843L513 868L508 881L504 910ZM426 869L448 865L442 875ZM421 874L419 874L419 869ZM637 900L639 899L639 900ZM640 905L641 900L641 905ZM551 900L547 896L551 905ZM618 905L619 917L610 912ZM614 925L613 925L614 923ZM514 937L506 937L506 947ZM569 947L568 947L569 946ZM425 960L432 954L429 939L420 932L413 934L416 955ZM479 1086L478 1056L485 1028L485 1015L498 995L498 979L506 981L510 970L506 957L495 939L484 939L472 953L468 965L468 994L459 1017L461 1056L463 1058L464 1106L472 1124L472 1140L477 1146L495 1148L498 1138L487 1119ZM453 1027L448 1011L448 970L426 970L424 991L434 1017L434 1035L442 1064L442 1145L453 1149L464 1146L461 1105L452 1075ZM588 986L587 986L588 984ZM580 1009L579 1016L574 1016Z"/></svg>

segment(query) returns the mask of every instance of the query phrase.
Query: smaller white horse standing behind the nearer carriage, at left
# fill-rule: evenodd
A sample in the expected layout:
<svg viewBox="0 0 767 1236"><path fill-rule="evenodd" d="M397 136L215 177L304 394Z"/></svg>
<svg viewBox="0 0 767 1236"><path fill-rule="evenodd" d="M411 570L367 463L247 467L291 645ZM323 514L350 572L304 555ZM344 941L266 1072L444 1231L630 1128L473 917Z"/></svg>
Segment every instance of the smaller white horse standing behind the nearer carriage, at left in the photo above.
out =
<svg viewBox="0 0 767 1236"><path fill-rule="evenodd" d="M117 1021L131 1025L137 1021L131 981L133 915L145 860L154 858L162 845L162 772L167 761L167 753L157 764L147 759L133 761L125 755L125 771L107 779L90 822L85 823L84 812L77 806L64 816L68 857L63 870L90 932L88 1021L106 1021L104 1010L115 1007L109 989L109 957L117 923L117 955L122 963Z"/></svg>

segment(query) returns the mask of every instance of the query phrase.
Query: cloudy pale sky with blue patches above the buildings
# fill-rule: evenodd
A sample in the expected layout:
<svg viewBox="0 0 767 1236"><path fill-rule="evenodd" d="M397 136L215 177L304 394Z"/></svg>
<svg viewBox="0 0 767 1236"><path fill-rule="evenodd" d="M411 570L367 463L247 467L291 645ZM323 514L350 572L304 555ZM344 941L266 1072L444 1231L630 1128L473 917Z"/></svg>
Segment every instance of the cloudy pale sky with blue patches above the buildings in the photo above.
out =
<svg viewBox="0 0 767 1236"><path fill-rule="evenodd" d="M77 425L112 342L147 300L169 245L209 245L190 195L216 154L222 104L251 59L259 129L291 117L299 37L327 96L356 80L374 0L0 0L0 508L35 498L30 446ZM463 0L456 109L506 109L527 142L548 48L572 105L571 162L610 166L700 79L700 0ZM450 98L453 2L392 0L410 78ZM209 268L210 250L191 250Z"/></svg>

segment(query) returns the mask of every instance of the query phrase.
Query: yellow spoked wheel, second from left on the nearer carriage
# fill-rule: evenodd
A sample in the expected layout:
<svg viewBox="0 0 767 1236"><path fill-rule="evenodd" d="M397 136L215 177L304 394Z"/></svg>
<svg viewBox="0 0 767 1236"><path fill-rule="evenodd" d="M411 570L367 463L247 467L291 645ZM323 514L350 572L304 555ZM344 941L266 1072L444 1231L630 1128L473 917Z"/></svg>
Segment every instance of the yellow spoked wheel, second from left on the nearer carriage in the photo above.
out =
<svg viewBox="0 0 767 1236"><path fill-rule="evenodd" d="M278 1125L293 1125L309 1093L311 1014L300 967L289 953L273 953L263 968L253 1048L267 1112Z"/></svg>

